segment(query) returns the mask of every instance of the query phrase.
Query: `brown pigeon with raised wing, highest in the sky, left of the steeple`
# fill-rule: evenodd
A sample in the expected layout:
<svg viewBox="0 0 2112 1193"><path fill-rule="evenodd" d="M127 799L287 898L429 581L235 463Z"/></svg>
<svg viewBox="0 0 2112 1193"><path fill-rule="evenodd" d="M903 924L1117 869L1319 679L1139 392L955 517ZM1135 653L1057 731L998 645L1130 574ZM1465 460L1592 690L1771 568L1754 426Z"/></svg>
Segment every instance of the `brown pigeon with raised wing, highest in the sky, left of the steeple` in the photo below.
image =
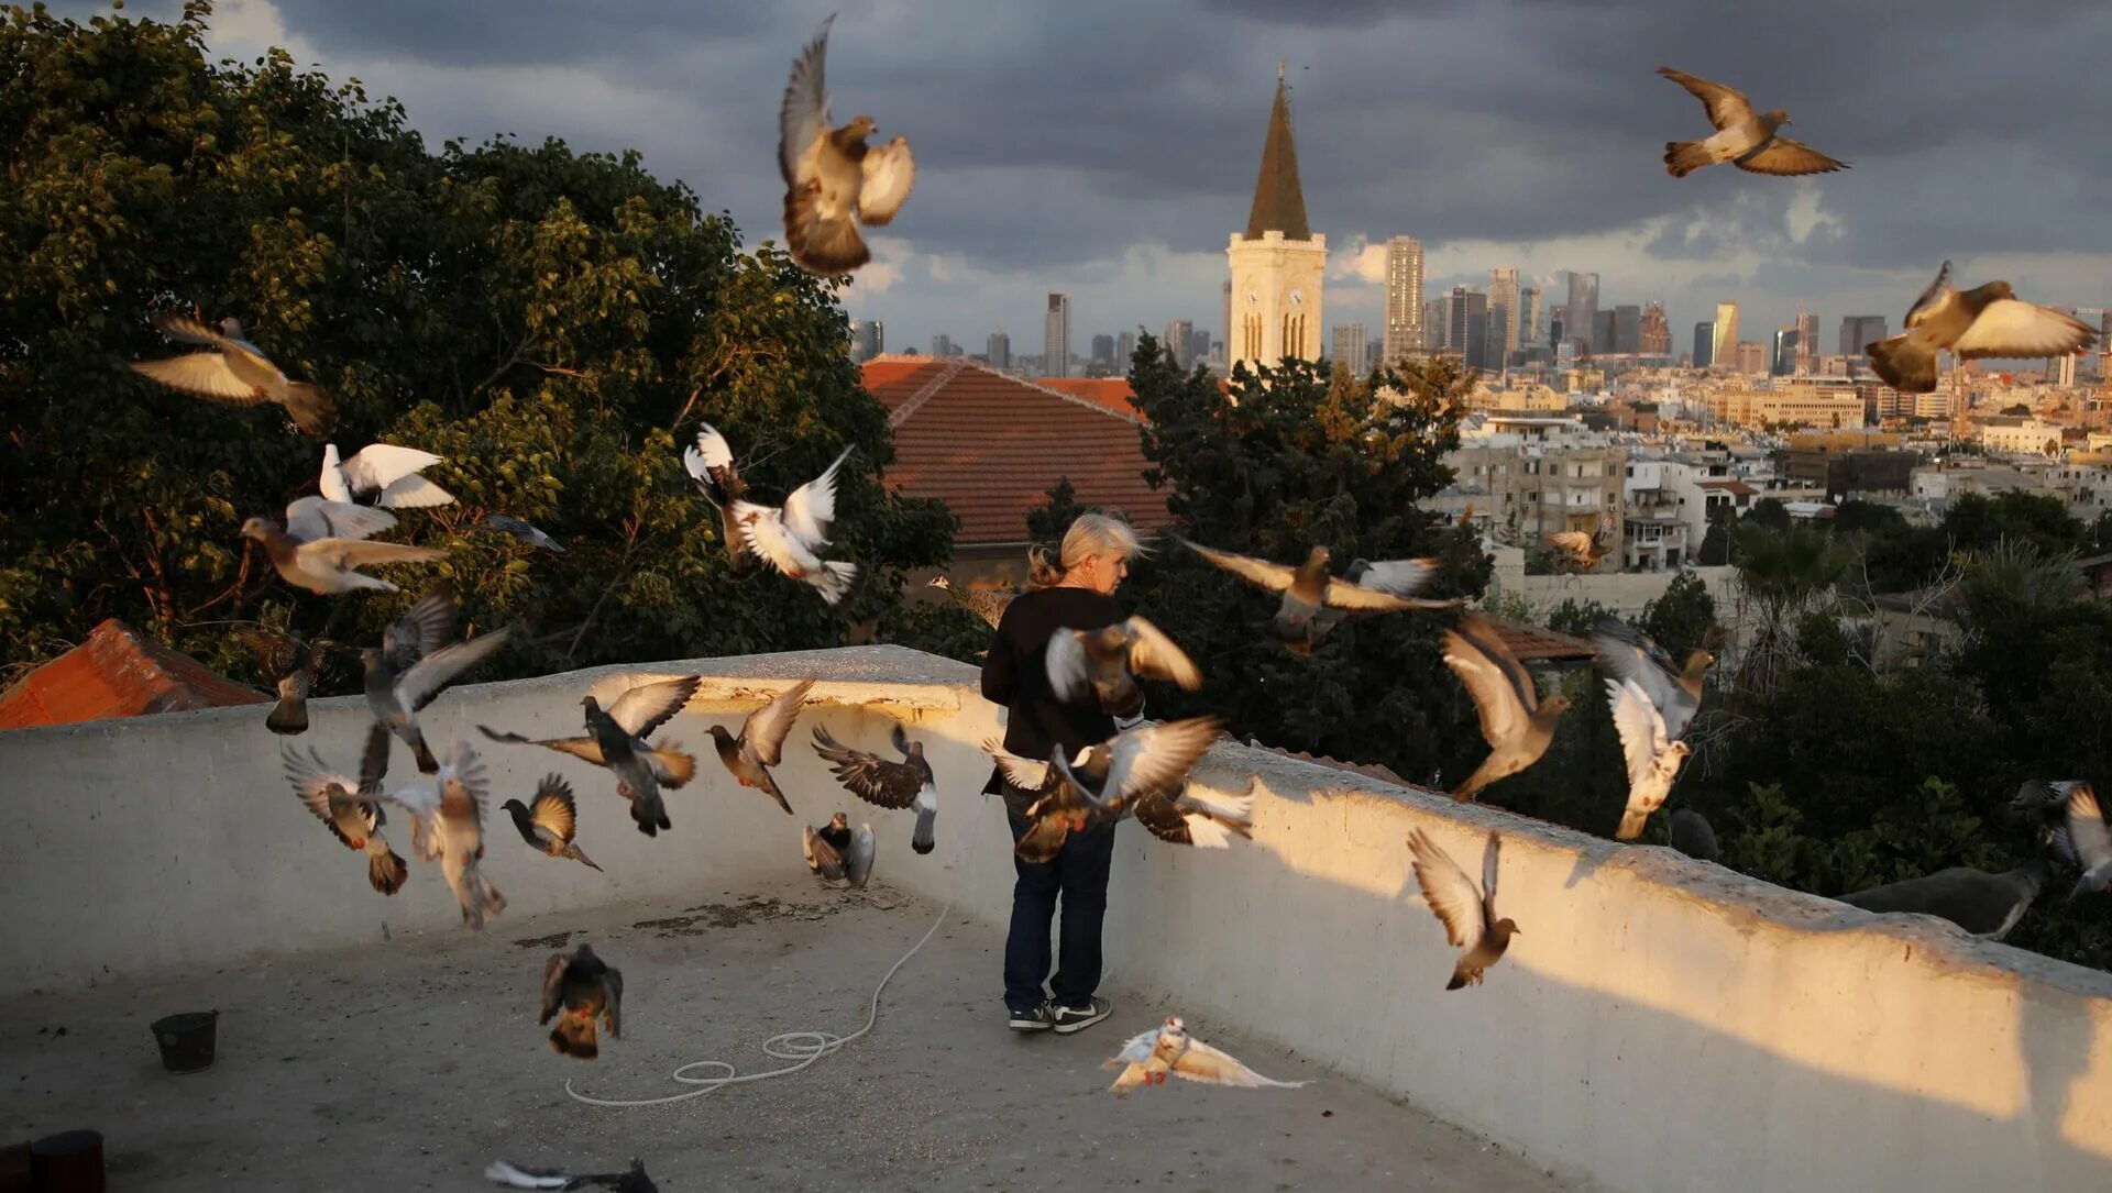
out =
<svg viewBox="0 0 2112 1193"><path fill-rule="evenodd" d="M786 247L807 272L843 274L872 260L857 224L881 228L895 217L917 182L908 137L866 146L876 127L855 116L828 127L828 25L822 21L807 51L792 63L786 99L777 110L777 169L786 179ZM853 222L855 217L855 222Z"/></svg>

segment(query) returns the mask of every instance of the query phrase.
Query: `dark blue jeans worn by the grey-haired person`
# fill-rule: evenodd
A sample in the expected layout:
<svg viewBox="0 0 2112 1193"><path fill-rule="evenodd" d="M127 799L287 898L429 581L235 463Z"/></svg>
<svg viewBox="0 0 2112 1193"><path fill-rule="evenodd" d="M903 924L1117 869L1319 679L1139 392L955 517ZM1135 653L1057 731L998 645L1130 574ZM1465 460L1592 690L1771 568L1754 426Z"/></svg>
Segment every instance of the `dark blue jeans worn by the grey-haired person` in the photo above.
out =
<svg viewBox="0 0 2112 1193"><path fill-rule="evenodd" d="M1005 800L1012 840L1031 828L1014 800ZM1073 832L1054 861L1012 859L1012 931L1005 933L1005 1007L1033 1011L1048 997L1058 1007L1086 1009L1100 988L1100 921L1107 916L1107 872L1115 861L1115 826L1096 823ZM1062 952L1048 995L1050 923L1062 897Z"/></svg>

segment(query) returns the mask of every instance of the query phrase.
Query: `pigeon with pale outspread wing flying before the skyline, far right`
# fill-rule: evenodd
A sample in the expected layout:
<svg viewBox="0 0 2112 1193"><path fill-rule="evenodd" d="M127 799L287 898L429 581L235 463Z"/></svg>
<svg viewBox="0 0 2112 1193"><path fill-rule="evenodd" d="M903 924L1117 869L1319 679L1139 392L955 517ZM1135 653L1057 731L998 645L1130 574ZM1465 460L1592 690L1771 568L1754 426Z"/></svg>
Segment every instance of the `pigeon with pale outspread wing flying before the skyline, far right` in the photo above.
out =
<svg viewBox="0 0 2112 1193"><path fill-rule="evenodd" d="M2061 315L2017 298L2006 281L1973 289L1951 285L1951 262L1907 310L1905 332L1865 346L1869 365L1884 384L1901 393L1935 393L1937 353L1960 361L1981 357L2068 357L2097 342L2097 332L2074 315Z"/></svg>

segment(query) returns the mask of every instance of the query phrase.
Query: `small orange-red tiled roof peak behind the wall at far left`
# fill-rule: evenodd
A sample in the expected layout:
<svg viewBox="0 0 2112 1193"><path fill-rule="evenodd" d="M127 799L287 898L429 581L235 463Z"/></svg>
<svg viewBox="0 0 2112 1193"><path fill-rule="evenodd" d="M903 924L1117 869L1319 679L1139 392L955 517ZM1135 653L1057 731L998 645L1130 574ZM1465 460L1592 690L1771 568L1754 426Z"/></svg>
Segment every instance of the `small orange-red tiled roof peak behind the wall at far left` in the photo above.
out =
<svg viewBox="0 0 2112 1193"><path fill-rule="evenodd" d="M118 619L97 625L89 640L30 671L0 693L0 728L74 724L139 716L262 703L270 697L209 671L190 655L177 655L139 636Z"/></svg>

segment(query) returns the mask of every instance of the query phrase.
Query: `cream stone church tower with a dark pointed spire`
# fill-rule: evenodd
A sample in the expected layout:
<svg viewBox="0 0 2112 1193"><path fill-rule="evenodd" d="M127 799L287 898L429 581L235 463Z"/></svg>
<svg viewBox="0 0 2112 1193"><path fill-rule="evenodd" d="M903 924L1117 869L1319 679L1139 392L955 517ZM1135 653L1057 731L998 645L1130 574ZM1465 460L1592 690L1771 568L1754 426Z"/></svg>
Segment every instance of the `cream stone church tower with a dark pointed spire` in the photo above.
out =
<svg viewBox="0 0 2112 1193"><path fill-rule="evenodd" d="M1231 317L1225 359L1231 365L1276 365L1284 357L1322 355L1320 287L1326 279L1326 236L1305 222L1299 152L1290 141L1290 89L1276 65L1276 106L1261 146L1261 177L1246 234L1231 234Z"/></svg>

